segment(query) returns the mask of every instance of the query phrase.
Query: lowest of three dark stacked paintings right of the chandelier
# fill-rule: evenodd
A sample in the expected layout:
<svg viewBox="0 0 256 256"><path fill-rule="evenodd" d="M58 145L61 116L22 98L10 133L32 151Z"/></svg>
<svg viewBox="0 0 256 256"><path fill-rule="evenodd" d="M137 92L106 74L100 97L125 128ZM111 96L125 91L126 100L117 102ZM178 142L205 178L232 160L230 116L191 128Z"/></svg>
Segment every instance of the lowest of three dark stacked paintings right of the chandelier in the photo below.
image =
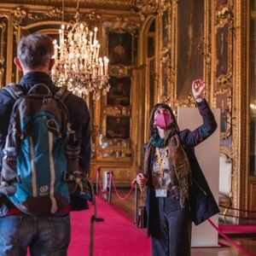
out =
<svg viewBox="0 0 256 256"><path fill-rule="evenodd" d="M108 139L130 138L130 117L129 116L107 116L106 137Z"/></svg>

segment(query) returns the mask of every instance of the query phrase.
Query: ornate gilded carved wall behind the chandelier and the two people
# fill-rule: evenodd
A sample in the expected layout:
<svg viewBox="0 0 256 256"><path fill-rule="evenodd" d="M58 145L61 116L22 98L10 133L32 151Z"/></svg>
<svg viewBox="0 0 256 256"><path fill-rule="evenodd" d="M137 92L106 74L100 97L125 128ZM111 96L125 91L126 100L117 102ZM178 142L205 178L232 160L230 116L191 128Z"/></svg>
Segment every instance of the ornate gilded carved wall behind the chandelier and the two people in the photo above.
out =
<svg viewBox="0 0 256 256"><path fill-rule="evenodd" d="M110 76L131 79L131 104L109 106L108 96L99 102L93 102L90 96L86 98L93 134L90 176L94 177L96 167L102 166L113 171L119 183L130 183L143 166L150 108L161 101L174 109L194 107L190 84L192 79L201 77L207 82L210 105L222 110L220 147L228 148L232 157L232 207L255 209L255 177L248 177L248 1L201 0L197 1L198 6L187 0L149 2L154 4L148 5L144 0L80 1L82 19L100 28L102 55L109 55L111 34L129 33L132 37L131 63L113 64L109 68ZM76 3L65 1L65 22L73 20ZM189 24L189 19L192 20L192 26L183 22L187 15L183 14L184 7L194 10L187 20ZM200 16L196 15L198 12ZM13 58L22 34L38 31L55 35L61 20L62 0L0 3L1 86L20 79ZM181 55L179 49L182 31L188 38L187 45L184 44L186 55ZM150 56L148 38L154 41L154 53ZM189 38L195 41L190 42ZM189 76L186 70L192 66L186 69L180 65L185 60L189 62L188 57L192 63L189 65L198 65ZM188 76L187 81L180 82L181 76ZM114 114L129 116L129 138L107 138L107 117ZM101 136L101 143L108 143L103 148Z"/></svg>

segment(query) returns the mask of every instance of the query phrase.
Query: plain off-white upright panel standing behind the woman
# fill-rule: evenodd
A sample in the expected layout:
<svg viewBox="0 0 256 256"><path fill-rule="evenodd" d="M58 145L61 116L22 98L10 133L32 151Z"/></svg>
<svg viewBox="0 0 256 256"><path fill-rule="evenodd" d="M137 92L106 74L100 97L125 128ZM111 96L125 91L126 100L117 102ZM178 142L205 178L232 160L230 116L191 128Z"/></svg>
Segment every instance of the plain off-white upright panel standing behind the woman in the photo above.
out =
<svg viewBox="0 0 256 256"><path fill-rule="evenodd" d="M213 109L218 128L211 137L195 147L195 154L212 189L212 194L218 202L218 170L219 170L219 109ZM177 123L180 130L194 130L202 124L202 118L197 108L177 108ZM218 214L211 218L218 226ZM192 228L192 247L217 247L218 232L207 221Z"/></svg>

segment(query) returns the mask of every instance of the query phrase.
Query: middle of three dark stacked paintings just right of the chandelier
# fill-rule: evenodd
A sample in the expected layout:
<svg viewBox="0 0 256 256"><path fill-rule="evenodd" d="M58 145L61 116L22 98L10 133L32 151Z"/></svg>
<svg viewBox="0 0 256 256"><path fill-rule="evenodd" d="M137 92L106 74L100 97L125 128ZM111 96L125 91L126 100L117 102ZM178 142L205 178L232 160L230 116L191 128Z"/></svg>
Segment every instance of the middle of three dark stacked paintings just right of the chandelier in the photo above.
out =
<svg viewBox="0 0 256 256"><path fill-rule="evenodd" d="M110 90L107 95L107 104L109 106L127 107L131 105L131 78L109 79Z"/></svg>

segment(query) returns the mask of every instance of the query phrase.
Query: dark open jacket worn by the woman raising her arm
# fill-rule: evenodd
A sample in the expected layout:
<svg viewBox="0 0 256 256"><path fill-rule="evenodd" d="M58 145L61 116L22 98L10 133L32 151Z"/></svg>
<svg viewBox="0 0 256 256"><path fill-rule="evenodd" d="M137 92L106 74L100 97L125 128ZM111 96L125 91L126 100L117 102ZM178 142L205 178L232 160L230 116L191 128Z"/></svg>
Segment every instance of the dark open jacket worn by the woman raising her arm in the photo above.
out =
<svg viewBox="0 0 256 256"><path fill-rule="evenodd" d="M207 218L212 217L212 215L217 214L219 212L218 205L214 200L212 192L207 184L207 180L204 177L203 172L201 171L201 167L199 166L198 161L195 157L194 147L199 143L203 142L207 137L210 137L212 133L217 128L217 123L214 119L214 115L212 113L211 108L206 100L197 103L197 107L201 114L203 124L196 128L194 131L183 130L179 131L178 136L180 138L180 142L183 145L184 151L186 152L189 158L189 164L192 172L192 186L189 189L189 210L191 212L191 218L195 225L201 224L203 221L207 220ZM147 144L148 145L148 144ZM146 150L147 150L146 145ZM154 150L152 150L152 155L150 156L150 169L148 172L152 173L152 166L154 161ZM217 172L218 170L216 170ZM151 183L151 179L149 176L148 183ZM154 233L154 225L155 221L155 212L154 207L152 207L152 201L154 198L154 191L150 189L150 185L148 185L148 196L146 200L146 208L148 214L148 235Z"/></svg>

